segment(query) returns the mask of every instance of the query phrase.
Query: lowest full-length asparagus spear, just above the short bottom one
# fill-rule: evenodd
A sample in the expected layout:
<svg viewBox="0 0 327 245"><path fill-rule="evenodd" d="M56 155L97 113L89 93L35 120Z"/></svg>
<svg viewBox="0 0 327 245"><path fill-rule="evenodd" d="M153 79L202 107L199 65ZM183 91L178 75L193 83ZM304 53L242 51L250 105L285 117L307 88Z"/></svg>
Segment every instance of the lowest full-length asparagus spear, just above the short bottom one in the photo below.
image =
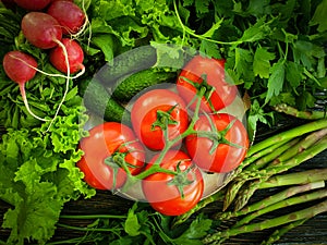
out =
<svg viewBox="0 0 327 245"><path fill-rule="evenodd" d="M298 220L310 219L316 215L327 211L327 200L320 201L317 205L311 206L308 208L294 211L288 215L276 217L272 219L267 219L262 222L246 224L243 226L231 228L225 231L218 231L214 234L207 235L202 242L204 244L220 244L230 236L235 236L242 233L250 233L255 231L262 231L265 229L276 228L282 224L291 223Z"/></svg>

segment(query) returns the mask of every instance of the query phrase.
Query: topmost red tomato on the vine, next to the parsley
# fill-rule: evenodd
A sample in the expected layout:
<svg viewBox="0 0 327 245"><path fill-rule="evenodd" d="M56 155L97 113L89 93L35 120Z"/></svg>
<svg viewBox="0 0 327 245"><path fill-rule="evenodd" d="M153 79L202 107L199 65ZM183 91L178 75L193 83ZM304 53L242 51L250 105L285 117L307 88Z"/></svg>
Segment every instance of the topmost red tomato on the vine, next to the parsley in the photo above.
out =
<svg viewBox="0 0 327 245"><path fill-rule="evenodd" d="M192 110L195 109L197 100L194 98L199 87L206 87L201 102L201 110L205 112L223 109L238 94L238 87L226 82L225 60L195 56L182 69L177 81L179 94L187 105L191 103Z"/></svg>

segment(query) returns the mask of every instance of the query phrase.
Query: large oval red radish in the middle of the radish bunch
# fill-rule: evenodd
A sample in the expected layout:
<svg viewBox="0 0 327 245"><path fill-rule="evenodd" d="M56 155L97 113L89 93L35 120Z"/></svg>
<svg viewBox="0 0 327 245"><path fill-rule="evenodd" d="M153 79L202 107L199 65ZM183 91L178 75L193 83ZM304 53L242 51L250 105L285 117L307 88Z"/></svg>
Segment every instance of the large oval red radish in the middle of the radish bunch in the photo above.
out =
<svg viewBox="0 0 327 245"><path fill-rule="evenodd" d="M26 39L37 48L50 49L59 45L62 30L58 21L47 13L29 12L22 20Z"/></svg>

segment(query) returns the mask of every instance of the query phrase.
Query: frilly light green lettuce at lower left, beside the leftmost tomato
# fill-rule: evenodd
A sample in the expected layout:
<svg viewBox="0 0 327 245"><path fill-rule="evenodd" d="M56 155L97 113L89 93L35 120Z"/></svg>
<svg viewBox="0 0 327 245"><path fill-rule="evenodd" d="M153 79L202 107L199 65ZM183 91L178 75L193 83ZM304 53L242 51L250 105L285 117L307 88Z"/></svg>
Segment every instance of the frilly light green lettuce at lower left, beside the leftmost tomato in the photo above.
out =
<svg viewBox="0 0 327 245"><path fill-rule="evenodd" d="M49 131L48 123L33 130L8 128L0 144L0 198L13 206L2 228L10 229L8 244L37 241L45 244L55 233L63 205L95 191L83 182L75 163L83 151L78 142L86 132L83 107L66 109Z"/></svg>

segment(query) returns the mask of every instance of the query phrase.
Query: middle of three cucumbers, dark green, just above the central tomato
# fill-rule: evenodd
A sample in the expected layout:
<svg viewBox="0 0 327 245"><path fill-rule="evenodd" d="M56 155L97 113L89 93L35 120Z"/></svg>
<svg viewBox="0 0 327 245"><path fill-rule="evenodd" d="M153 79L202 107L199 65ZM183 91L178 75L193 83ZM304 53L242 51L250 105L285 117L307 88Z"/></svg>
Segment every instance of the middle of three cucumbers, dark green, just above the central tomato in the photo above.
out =
<svg viewBox="0 0 327 245"><path fill-rule="evenodd" d="M175 72L147 69L120 78L112 87L112 96L121 102L130 101L137 93L153 85L174 82Z"/></svg>

